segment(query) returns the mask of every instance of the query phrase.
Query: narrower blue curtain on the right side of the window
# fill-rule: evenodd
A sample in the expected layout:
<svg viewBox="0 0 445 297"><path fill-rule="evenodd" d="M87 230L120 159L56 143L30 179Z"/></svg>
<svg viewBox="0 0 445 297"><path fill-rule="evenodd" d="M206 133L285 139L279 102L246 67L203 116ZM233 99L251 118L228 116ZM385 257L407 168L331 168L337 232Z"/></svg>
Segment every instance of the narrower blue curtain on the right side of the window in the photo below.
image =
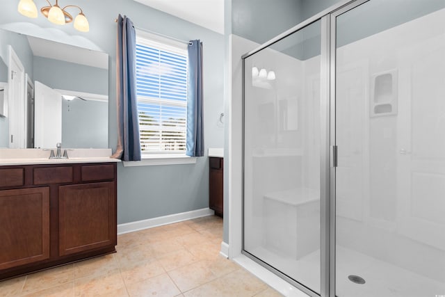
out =
<svg viewBox="0 0 445 297"><path fill-rule="evenodd" d="M202 42L191 40L188 44L187 156L204 156L202 101Z"/></svg>

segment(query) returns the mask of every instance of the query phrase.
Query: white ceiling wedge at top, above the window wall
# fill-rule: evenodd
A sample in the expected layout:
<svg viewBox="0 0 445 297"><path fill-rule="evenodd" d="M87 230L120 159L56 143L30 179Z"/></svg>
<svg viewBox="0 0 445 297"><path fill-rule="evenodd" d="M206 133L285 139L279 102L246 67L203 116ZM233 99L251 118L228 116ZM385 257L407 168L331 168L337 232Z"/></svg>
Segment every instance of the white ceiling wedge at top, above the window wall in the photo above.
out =
<svg viewBox="0 0 445 297"><path fill-rule="evenodd" d="M224 0L134 0L224 34Z"/></svg>

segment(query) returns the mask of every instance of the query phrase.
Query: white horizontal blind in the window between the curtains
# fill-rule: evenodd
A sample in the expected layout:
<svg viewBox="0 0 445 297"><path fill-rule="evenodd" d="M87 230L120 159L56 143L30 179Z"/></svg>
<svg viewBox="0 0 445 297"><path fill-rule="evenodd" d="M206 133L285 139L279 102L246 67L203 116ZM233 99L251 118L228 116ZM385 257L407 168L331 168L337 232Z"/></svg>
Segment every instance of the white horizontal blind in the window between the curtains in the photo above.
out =
<svg viewBox="0 0 445 297"><path fill-rule="evenodd" d="M138 36L136 93L143 154L185 154L186 49Z"/></svg>

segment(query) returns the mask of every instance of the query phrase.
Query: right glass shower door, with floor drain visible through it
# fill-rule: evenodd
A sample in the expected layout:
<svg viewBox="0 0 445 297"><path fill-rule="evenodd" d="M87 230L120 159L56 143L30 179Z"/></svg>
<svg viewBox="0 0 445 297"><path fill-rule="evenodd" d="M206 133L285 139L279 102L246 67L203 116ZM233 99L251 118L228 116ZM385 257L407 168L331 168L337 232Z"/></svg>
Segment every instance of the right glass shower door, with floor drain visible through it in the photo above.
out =
<svg viewBox="0 0 445 297"><path fill-rule="evenodd" d="M331 22L335 294L445 296L445 1L359 2Z"/></svg>

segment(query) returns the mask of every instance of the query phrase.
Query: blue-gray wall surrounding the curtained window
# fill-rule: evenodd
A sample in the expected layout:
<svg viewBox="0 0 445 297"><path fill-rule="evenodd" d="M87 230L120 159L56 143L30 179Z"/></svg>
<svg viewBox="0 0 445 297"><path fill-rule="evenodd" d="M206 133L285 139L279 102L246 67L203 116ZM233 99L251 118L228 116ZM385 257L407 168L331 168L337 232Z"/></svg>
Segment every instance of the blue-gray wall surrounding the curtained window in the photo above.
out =
<svg viewBox="0 0 445 297"><path fill-rule="evenodd" d="M37 3L41 6L42 3ZM83 13L90 22L90 32L80 33L71 24L56 26L39 15L26 18L17 13L17 3L8 3L0 11L1 24L32 22L38 26L81 35L95 42L110 55L108 75L109 140L115 150L116 122L116 17L121 13L142 29L155 31L180 40L200 39L204 45L204 141L208 147L223 147L223 128L218 127L223 112L224 36L162 13L133 0L82 1ZM147 166L124 168L118 165L118 223L165 216L209 206L209 170L207 158L198 158L195 165Z"/></svg>

